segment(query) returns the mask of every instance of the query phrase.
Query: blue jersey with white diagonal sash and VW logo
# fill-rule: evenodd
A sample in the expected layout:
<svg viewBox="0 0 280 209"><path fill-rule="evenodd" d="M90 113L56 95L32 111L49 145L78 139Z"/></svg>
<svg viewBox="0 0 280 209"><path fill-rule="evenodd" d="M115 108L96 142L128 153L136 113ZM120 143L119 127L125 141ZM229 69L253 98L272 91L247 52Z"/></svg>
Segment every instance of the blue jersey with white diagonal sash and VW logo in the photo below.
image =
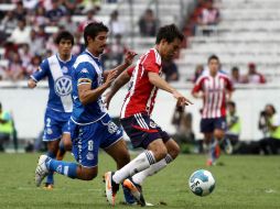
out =
<svg viewBox="0 0 280 209"><path fill-rule="evenodd" d="M58 55L55 54L44 59L39 70L35 72L31 78L35 81L40 81L47 77L49 79L49 100L47 108L51 108L60 112L72 112L72 66L76 61L76 56L71 57L69 61L63 62Z"/></svg>

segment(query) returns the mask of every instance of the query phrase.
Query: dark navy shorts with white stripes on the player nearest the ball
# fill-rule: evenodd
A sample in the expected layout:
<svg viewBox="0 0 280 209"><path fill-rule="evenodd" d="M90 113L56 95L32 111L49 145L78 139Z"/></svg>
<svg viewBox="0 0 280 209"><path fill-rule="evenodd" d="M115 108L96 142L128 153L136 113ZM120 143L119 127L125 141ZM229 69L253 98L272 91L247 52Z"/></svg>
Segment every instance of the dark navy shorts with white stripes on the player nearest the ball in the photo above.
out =
<svg viewBox="0 0 280 209"><path fill-rule="evenodd" d="M170 135L150 119L148 114L137 113L121 119L120 123L134 148L147 148L152 141L158 139L162 139L164 143L170 140Z"/></svg>

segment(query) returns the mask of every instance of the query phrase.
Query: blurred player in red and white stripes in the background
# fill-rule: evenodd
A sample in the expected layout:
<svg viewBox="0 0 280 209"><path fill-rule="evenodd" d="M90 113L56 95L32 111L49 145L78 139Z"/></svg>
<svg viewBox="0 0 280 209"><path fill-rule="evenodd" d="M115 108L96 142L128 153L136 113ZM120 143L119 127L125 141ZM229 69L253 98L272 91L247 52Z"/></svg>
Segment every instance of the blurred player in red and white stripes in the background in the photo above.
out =
<svg viewBox="0 0 280 209"><path fill-rule="evenodd" d="M208 70L202 74L192 90L195 98L203 99L201 132L204 133L206 143L213 142L207 165L213 165L219 156L218 141L225 135L226 101L230 100L231 92L229 77L219 72L219 59L212 55L208 58Z"/></svg>

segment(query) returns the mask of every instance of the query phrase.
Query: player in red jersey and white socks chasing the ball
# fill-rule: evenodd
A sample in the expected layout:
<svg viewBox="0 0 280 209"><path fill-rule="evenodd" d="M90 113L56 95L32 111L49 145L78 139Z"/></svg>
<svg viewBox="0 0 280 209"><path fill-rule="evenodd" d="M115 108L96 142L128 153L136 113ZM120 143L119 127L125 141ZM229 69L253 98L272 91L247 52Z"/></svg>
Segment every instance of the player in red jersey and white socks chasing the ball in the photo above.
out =
<svg viewBox="0 0 280 209"><path fill-rule="evenodd" d="M158 89L172 94L177 100L177 106L191 103L161 78L162 59L172 59L179 52L183 38L183 34L174 24L161 28L157 35L155 46L138 59L134 68L123 72L107 95L108 105L119 88L130 80L120 122L133 147L146 150L116 173L105 174L106 195L109 202L116 195L115 185L123 182L123 186L130 189L141 206L144 206L146 201L141 193L144 178L164 168L180 152L176 142L151 119L151 113Z"/></svg>

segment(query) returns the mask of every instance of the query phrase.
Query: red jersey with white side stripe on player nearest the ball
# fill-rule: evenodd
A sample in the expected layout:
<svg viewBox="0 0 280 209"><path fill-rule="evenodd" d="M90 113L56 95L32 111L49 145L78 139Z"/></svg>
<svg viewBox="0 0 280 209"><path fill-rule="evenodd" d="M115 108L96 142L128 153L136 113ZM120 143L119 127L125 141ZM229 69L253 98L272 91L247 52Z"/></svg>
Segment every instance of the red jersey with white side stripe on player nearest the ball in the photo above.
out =
<svg viewBox="0 0 280 209"><path fill-rule="evenodd" d="M151 48L143 54L138 59L136 67L128 70L131 78L120 118L127 118L136 113L151 114L158 88L150 82L148 73L152 72L161 75L161 56L155 48Z"/></svg>

